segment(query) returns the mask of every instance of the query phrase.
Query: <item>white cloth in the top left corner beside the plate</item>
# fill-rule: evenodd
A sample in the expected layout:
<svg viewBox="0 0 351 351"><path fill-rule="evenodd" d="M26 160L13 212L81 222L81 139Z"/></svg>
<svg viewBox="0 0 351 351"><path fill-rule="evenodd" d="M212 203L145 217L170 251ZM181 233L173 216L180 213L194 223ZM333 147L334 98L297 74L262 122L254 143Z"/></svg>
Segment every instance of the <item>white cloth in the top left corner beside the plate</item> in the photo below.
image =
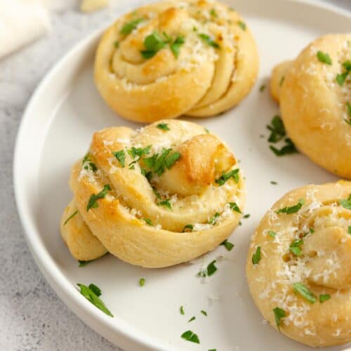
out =
<svg viewBox="0 0 351 351"><path fill-rule="evenodd" d="M0 58L38 39L51 28L48 11L28 0L0 0Z"/></svg>

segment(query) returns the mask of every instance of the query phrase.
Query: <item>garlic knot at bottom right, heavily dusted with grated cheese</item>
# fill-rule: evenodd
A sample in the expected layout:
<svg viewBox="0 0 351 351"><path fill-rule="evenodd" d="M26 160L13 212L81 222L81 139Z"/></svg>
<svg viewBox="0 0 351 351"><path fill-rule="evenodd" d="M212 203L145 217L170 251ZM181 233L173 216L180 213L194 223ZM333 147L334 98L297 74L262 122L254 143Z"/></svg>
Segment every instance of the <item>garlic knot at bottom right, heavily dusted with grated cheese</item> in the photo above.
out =
<svg viewBox="0 0 351 351"><path fill-rule="evenodd" d="M286 194L253 235L246 264L253 300L289 338L326 347L351 341L351 182Z"/></svg>

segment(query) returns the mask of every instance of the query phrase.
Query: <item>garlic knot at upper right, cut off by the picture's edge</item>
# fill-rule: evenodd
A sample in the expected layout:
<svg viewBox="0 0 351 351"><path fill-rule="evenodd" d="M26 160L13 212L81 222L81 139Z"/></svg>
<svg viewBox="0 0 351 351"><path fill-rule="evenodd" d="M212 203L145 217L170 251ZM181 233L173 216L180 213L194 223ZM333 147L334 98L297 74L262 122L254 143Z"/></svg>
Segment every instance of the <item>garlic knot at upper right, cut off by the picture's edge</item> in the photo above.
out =
<svg viewBox="0 0 351 351"><path fill-rule="evenodd" d="M272 96L298 149L351 179L351 34L329 34L273 69Z"/></svg>

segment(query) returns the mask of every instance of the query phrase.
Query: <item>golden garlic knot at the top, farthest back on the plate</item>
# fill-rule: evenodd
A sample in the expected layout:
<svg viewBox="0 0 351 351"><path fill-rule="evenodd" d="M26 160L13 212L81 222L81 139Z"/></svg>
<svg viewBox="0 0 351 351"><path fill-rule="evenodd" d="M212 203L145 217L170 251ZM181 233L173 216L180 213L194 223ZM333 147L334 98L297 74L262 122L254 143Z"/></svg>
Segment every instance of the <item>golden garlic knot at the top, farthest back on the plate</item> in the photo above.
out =
<svg viewBox="0 0 351 351"><path fill-rule="evenodd" d="M100 40L95 84L122 117L208 117L237 105L258 74L253 36L216 1L162 1L127 13Z"/></svg>

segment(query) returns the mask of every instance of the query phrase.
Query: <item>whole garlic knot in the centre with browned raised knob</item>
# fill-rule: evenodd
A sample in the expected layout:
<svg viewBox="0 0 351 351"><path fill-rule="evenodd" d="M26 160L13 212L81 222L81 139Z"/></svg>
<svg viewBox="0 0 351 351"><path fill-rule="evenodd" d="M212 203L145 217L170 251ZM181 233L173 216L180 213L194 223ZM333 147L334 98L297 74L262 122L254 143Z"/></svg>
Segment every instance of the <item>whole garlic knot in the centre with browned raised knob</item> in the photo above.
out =
<svg viewBox="0 0 351 351"><path fill-rule="evenodd" d="M61 234L77 260L107 251L143 267L192 260L230 236L244 206L232 152L186 121L95 133L69 185Z"/></svg>

